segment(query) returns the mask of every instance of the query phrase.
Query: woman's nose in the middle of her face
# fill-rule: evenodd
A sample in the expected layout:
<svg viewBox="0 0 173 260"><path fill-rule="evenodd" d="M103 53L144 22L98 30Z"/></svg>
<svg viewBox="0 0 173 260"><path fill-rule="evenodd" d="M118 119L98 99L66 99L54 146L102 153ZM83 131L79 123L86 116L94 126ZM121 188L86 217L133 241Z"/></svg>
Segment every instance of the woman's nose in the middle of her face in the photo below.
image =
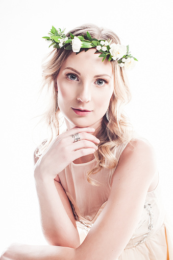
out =
<svg viewBox="0 0 173 260"><path fill-rule="evenodd" d="M91 100L91 90L88 83L83 83L79 86L77 99L83 103L87 103Z"/></svg>

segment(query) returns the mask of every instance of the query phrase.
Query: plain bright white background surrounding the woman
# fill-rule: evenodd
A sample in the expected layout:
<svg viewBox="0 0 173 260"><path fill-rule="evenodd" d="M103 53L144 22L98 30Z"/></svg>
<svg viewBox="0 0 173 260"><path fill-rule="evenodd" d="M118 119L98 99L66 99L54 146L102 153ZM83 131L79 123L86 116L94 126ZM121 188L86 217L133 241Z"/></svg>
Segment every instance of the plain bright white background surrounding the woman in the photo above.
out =
<svg viewBox="0 0 173 260"><path fill-rule="evenodd" d="M156 149L163 200L173 216L172 10L171 1L4 0L1 17L1 230L0 252L13 242L45 244L33 177L33 153L45 131L39 96L42 39L52 25L93 23L112 29L139 62L128 73L127 113L136 131ZM36 117L36 118L34 118ZM40 134L41 131L41 134Z"/></svg>

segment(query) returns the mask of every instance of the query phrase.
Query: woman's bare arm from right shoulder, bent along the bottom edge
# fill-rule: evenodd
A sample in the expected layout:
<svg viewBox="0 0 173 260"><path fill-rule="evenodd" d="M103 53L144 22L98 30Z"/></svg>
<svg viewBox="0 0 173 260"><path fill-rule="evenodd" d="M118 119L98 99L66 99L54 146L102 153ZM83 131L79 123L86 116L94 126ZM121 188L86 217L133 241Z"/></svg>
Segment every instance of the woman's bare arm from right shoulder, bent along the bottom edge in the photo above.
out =
<svg viewBox="0 0 173 260"><path fill-rule="evenodd" d="M152 146L138 140L134 142L134 147L135 149L132 149L128 144L123 150L114 172L107 204L77 249L29 245L16 245L14 248L12 245L5 252L5 256L10 254L10 260L23 260L23 257L25 260L118 258L139 222L146 192L156 171L156 158ZM3 257L0 259L7 259Z"/></svg>

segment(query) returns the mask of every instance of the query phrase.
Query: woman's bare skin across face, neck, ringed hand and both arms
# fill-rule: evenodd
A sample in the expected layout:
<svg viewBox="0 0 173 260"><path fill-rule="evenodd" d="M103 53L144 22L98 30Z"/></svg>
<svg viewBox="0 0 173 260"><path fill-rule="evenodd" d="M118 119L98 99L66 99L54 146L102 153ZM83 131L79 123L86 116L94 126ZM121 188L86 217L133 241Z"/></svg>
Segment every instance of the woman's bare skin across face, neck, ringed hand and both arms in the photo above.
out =
<svg viewBox="0 0 173 260"><path fill-rule="evenodd" d="M114 86L110 62L102 62L102 58L94 52L91 49L78 55L72 53L62 64L57 78L58 105L65 116L67 131L55 139L38 161L35 159L34 177L42 225L44 235L52 246L15 243L6 249L1 260L116 259L140 220L146 192L158 183L153 147L143 140L134 140L135 149L128 144L121 154L105 208L80 245L76 222L58 173L72 161L91 160L96 144L100 142L93 135L92 127L96 129L101 125ZM65 69L67 67L72 69ZM109 76L95 78L100 74ZM104 80L108 83L100 86L98 80L101 79L100 83ZM92 112L79 116L71 107L83 107ZM70 135L77 132L81 140L73 143Z"/></svg>

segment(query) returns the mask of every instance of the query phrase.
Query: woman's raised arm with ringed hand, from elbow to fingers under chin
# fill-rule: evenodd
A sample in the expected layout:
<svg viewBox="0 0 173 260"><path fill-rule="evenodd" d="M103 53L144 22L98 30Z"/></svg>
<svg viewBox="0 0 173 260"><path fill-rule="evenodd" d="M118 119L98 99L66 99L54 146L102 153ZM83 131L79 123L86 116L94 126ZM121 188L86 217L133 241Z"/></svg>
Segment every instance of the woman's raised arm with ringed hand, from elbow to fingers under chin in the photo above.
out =
<svg viewBox="0 0 173 260"><path fill-rule="evenodd" d="M41 224L48 242L56 246L77 248L79 233L71 205L61 186L58 174L69 163L93 154L99 143L90 127L73 127L57 136L35 164L34 177L40 205ZM81 139L74 142L71 134L80 132Z"/></svg>

